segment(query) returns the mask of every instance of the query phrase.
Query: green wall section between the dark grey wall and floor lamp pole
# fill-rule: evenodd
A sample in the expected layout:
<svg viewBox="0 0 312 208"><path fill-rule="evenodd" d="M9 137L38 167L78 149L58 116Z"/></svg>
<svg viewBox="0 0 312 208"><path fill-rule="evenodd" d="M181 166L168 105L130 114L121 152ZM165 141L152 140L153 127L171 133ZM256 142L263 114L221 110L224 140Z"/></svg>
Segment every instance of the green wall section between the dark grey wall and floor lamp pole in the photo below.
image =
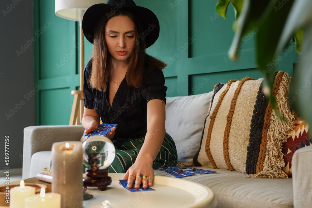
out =
<svg viewBox="0 0 312 208"><path fill-rule="evenodd" d="M35 97L36 125L69 123L71 90L79 86L76 25L54 14L53 0L34 0L35 83L42 86Z"/></svg>

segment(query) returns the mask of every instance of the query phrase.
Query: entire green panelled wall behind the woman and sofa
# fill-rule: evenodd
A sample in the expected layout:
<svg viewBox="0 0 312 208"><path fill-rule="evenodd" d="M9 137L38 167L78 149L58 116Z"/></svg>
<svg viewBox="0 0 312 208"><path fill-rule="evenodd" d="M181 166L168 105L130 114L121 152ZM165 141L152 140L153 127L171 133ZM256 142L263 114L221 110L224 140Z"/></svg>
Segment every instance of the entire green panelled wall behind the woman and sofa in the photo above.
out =
<svg viewBox="0 0 312 208"><path fill-rule="evenodd" d="M232 6L224 19L215 12L217 0L134 1L159 19L159 38L147 52L167 63L163 70L167 97L206 93L231 79L263 77L256 70L253 33L242 41L237 62L227 58L234 36ZM36 125L68 125L71 90L79 89L79 23L57 17L54 0L34 0L34 13L35 31L46 21L52 23L34 42L35 82L42 85L36 97ZM93 45L84 40L86 65ZM291 76L297 57L294 50L281 54L277 70Z"/></svg>

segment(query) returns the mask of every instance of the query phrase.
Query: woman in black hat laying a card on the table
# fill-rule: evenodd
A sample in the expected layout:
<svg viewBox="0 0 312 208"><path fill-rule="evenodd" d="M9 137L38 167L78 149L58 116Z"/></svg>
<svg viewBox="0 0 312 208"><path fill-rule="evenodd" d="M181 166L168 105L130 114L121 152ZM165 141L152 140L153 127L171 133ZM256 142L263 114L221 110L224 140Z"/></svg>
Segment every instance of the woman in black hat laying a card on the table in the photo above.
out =
<svg viewBox="0 0 312 208"><path fill-rule="evenodd" d="M132 0L109 0L88 8L82 20L94 45L85 72L85 133L117 123L109 135L116 148L110 172L125 173L128 187L152 186L153 168L175 166L177 151L165 132L166 90L162 61L145 53L159 36L159 22Z"/></svg>

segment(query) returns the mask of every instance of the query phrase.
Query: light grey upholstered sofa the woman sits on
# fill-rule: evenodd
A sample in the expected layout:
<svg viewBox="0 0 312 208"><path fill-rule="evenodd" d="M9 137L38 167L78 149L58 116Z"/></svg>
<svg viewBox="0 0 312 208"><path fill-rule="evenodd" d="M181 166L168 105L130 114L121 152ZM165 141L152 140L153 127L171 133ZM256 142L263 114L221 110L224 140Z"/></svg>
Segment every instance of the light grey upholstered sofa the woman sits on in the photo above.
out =
<svg viewBox="0 0 312 208"><path fill-rule="evenodd" d="M204 119L212 92L168 97L166 132L174 139L178 162L191 161L199 148ZM51 166L51 145L59 141L79 141L80 126L30 126L24 129L23 179L35 177ZM201 183L215 193L217 207L312 207L312 146L300 148L293 156L293 177L288 179L245 178L246 174L217 169L215 173L183 177ZM201 167L206 170L212 168ZM163 171L155 175L173 177ZM189 199L186 199L186 204Z"/></svg>

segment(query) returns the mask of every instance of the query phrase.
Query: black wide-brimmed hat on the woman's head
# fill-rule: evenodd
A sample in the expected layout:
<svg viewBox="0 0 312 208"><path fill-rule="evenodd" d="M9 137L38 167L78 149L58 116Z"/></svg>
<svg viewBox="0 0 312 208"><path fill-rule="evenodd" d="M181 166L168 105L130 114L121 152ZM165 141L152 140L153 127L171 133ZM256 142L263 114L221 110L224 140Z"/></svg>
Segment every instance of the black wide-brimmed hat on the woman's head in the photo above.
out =
<svg viewBox="0 0 312 208"><path fill-rule="evenodd" d="M119 9L125 9L136 15L143 25L146 48L153 45L159 36L159 21L151 10L137 6L132 0L109 0L89 7L82 18L82 31L85 38L93 44L95 27L104 15L114 15ZM140 34L139 34L140 35Z"/></svg>

